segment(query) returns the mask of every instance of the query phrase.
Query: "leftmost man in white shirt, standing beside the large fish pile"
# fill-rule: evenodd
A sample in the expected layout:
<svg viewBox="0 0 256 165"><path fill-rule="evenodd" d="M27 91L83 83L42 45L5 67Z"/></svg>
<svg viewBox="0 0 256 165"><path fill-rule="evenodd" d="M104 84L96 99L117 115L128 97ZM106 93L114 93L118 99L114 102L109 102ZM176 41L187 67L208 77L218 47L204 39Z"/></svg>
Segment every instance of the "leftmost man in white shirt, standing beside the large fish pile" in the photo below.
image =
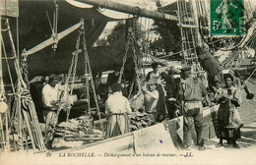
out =
<svg viewBox="0 0 256 165"><path fill-rule="evenodd" d="M42 88L42 104L45 119L45 145L50 147L53 140L54 128L58 122L57 109L59 105L59 90L56 84L59 79L56 75L49 76L49 81Z"/></svg>

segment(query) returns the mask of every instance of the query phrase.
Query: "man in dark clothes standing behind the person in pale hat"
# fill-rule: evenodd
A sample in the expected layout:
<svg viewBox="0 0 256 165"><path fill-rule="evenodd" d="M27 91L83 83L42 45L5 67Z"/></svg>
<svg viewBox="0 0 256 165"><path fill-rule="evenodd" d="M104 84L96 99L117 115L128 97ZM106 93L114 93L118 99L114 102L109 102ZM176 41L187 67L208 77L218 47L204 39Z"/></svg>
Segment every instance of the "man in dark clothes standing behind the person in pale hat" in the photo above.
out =
<svg viewBox="0 0 256 165"><path fill-rule="evenodd" d="M158 101L158 105L157 105L157 112L158 112L157 121L161 122L164 120L164 117L166 115L166 106L165 106L164 89L161 84L159 64L153 63L152 69L153 69L153 71L147 75L146 81L148 82L151 79L157 80L157 90L159 91L159 101Z"/></svg>

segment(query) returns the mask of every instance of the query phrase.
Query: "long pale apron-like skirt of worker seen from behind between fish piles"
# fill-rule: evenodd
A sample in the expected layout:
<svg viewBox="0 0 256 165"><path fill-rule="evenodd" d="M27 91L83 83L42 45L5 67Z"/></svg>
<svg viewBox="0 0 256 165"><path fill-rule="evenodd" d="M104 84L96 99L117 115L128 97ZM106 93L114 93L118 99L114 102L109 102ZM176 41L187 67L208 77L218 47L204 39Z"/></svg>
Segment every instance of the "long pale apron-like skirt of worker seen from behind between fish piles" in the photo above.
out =
<svg viewBox="0 0 256 165"><path fill-rule="evenodd" d="M120 136L130 132L127 115L111 115L108 118L106 138Z"/></svg>

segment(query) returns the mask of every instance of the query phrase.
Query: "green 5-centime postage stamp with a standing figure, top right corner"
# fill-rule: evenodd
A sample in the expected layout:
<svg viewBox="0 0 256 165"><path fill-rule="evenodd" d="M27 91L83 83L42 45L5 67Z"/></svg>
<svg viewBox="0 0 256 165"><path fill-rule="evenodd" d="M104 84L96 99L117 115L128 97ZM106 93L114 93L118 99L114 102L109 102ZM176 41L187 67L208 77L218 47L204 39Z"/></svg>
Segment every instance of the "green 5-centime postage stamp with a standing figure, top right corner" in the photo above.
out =
<svg viewBox="0 0 256 165"><path fill-rule="evenodd" d="M244 35L243 0L211 0L210 29L213 36Z"/></svg>

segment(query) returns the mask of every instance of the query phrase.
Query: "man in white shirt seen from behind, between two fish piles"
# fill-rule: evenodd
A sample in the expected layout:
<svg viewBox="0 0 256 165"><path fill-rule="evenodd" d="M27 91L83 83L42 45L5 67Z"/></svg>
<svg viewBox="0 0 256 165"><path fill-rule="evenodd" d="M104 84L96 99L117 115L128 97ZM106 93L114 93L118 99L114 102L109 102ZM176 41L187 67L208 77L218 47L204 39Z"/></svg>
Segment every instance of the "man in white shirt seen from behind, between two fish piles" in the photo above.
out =
<svg viewBox="0 0 256 165"><path fill-rule="evenodd" d="M105 114L108 116L106 138L116 137L130 132L128 114L132 112L130 103L122 95L121 84L111 85L112 94L105 102Z"/></svg>

